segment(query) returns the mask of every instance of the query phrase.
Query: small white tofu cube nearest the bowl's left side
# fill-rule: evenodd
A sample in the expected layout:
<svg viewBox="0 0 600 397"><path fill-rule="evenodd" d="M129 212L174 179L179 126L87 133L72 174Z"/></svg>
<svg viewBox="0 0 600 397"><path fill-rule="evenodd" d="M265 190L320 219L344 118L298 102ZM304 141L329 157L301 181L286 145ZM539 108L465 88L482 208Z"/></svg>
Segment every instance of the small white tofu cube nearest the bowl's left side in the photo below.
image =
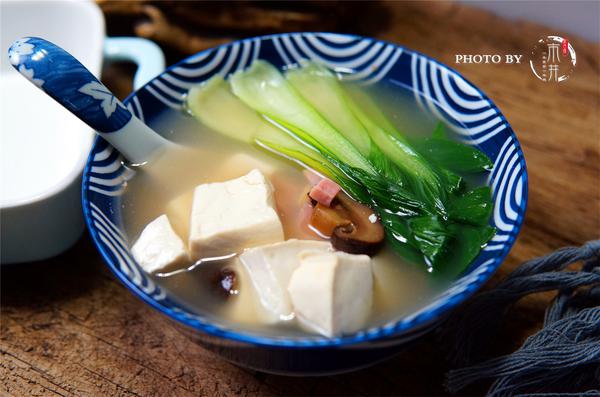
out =
<svg viewBox="0 0 600 397"><path fill-rule="evenodd" d="M188 261L185 245L166 215L161 215L146 225L131 252L148 273L172 271Z"/></svg>

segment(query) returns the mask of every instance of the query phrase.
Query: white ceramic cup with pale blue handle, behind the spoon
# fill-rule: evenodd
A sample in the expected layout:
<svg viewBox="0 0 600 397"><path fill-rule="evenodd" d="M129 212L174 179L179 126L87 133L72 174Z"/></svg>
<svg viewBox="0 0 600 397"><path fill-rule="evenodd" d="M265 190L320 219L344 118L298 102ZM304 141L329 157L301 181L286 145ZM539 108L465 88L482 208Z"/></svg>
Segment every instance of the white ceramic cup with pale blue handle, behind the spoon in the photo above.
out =
<svg viewBox="0 0 600 397"><path fill-rule="evenodd" d="M138 38L106 38L91 1L0 3L0 263L58 255L84 229L81 174L94 132L9 64L7 49L23 36L45 37L94 75L103 57L138 64L134 88L164 69L158 46Z"/></svg>

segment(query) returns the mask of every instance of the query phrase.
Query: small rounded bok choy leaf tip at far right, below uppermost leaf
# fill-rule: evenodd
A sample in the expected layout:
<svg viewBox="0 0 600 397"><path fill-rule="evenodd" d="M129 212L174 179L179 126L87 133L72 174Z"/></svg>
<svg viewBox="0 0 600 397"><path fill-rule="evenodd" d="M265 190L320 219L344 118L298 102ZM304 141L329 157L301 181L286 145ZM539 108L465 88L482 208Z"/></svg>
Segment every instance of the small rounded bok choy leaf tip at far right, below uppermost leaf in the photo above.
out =
<svg viewBox="0 0 600 397"><path fill-rule="evenodd" d="M453 196L448 205L450 219L475 226L486 225L492 215L492 189L481 186L462 196Z"/></svg>

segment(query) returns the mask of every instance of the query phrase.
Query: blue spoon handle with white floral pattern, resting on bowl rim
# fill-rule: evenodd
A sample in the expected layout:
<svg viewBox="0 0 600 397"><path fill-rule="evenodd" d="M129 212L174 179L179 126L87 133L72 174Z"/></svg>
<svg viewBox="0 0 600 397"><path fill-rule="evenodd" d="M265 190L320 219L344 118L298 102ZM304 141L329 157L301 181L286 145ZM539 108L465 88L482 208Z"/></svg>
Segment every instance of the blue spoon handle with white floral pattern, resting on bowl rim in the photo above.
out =
<svg viewBox="0 0 600 397"><path fill-rule="evenodd" d="M131 162L144 163L169 145L57 45L26 37L11 45L8 56L19 73L96 130Z"/></svg>

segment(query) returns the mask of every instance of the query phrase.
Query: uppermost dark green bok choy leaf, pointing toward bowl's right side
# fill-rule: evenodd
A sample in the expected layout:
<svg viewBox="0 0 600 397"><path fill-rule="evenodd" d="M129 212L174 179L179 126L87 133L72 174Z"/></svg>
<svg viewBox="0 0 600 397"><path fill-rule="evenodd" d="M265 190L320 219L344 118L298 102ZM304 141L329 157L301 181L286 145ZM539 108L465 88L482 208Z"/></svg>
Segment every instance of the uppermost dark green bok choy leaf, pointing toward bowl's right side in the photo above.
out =
<svg viewBox="0 0 600 397"><path fill-rule="evenodd" d="M448 139L425 138L413 145L429 161L454 172L482 172L494 164L479 149Z"/></svg>

